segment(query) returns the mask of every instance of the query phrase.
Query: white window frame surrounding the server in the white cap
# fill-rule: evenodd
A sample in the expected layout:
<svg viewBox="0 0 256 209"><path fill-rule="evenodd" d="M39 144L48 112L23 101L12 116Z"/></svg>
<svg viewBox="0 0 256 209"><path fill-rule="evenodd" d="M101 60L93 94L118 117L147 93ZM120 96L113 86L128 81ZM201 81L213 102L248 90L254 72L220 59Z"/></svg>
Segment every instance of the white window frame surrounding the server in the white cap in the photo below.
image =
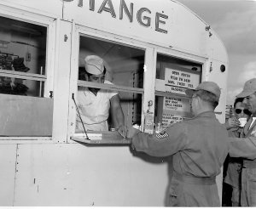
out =
<svg viewBox="0 0 256 209"><path fill-rule="evenodd" d="M84 36L84 37L91 37L94 39L99 39L102 41L106 41L106 42L114 42L117 44L121 44L124 46L128 46L131 48L138 48L138 49L142 49L145 53L144 53L144 66L146 65L147 68L149 69L154 69L154 61L151 59L153 52L154 52L154 48L152 48L152 46L150 46L150 44L144 43L144 42L140 42L137 41L135 39L131 39L131 38L127 38L127 37L122 37L116 34L110 34L108 32L104 32L104 31L98 31L95 29L91 29L89 27L86 27L84 25L76 25L75 23L73 23L73 45L72 45L72 69L75 69L75 71L71 72L71 78L70 78L70 95L69 95L69 116L68 116L68 134L67 134L67 138L68 140L70 140L70 138L72 138L73 136L75 136L75 117L76 117L76 111L75 111L75 105L73 104L73 100L72 100L72 94L74 93L74 95L76 95L77 93L77 87L78 84L84 87L100 87L100 88L104 88L104 89L114 89L117 91L123 91L123 92L130 92L130 93L141 93L143 95L143 104L142 104L142 123L144 120L144 114L143 114L143 110L145 109L146 105L146 100L148 99L152 99L152 92L154 88L154 85L152 85L150 82L146 82L148 81L148 78L150 78L150 80L152 80L152 73L154 74L155 71L147 71L144 68L144 75L143 75L143 88L131 88L131 87L125 87L125 86L119 86L119 85L108 85L108 84L95 84L92 82L85 82L85 81L79 81L77 78L78 75L78 69L79 69L79 41L80 41L80 36ZM154 83L153 83L154 84ZM148 91L145 92L144 89L152 89L152 91ZM142 128L143 128L143 124L142 124ZM108 132L111 133L111 132ZM70 140L71 141L71 140Z"/></svg>

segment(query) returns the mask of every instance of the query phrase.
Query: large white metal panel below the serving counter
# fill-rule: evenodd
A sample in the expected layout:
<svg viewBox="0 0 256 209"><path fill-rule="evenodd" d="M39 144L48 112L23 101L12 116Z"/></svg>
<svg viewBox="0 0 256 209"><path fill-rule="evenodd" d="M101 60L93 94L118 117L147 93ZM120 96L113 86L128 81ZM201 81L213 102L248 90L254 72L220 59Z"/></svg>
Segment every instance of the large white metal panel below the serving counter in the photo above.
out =
<svg viewBox="0 0 256 209"><path fill-rule="evenodd" d="M15 206L164 206L166 163L126 146L20 144L18 162Z"/></svg>

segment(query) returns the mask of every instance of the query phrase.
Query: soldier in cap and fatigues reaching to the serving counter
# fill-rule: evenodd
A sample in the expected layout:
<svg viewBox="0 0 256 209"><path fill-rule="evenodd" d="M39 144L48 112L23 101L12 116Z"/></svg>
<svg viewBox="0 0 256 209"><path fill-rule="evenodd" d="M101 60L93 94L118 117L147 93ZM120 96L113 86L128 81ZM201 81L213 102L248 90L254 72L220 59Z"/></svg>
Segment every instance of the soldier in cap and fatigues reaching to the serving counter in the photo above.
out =
<svg viewBox="0 0 256 209"><path fill-rule="evenodd" d="M201 82L186 94L195 117L154 134L131 127L128 138L137 151L158 157L172 155L168 206L220 206L216 176L228 154L228 132L213 112L220 88L215 82Z"/></svg>

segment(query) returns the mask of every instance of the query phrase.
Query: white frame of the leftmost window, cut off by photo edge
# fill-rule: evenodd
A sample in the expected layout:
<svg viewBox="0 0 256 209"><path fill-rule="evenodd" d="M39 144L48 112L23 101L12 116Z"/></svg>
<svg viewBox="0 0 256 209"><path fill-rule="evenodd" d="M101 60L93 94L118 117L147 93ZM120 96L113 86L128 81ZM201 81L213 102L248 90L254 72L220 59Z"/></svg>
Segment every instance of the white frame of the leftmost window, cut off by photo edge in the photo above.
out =
<svg viewBox="0 0 256 209"><path fill-rule="evenodd" d="M3 6L0 8L0 16L9 18L12 20L20 20L26 23L41 25L46 27L46 54L45 54L45 75L20 72L20 71L8 71L0 70L0 76L8 76L14 78L21 78L30 81L44 82L44 95L43 98L50 98L50 91L54 89L54 69L55 69L55 35L56 35L56 18L46 14L36 14L30 11L22 10L22 8L12 8L9 6ZM15 95L15 94L14 94ZM24 96L24 99L30 98L31 96ZM37 98L37 97L33 97ZM53 104L54 105L54 104ZM4 136L0 137L1 144L9 143L46 143L52 141L51 137L44 136Z"/></svg>

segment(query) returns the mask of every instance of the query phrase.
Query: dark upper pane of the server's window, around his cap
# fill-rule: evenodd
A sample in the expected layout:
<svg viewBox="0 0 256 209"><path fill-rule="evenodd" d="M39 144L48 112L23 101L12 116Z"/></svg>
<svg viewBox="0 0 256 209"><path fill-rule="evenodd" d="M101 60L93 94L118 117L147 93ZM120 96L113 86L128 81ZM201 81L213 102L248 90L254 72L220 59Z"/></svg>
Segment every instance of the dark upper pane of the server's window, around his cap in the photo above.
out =
<svg viewBox="0 0 256 209"><path fill-rule="evenodd" d="M84 59L96 55L103 59L105 80L115 85L143 88L144 51L115 42L80 37L79 79L84 78Z"/></svg>

